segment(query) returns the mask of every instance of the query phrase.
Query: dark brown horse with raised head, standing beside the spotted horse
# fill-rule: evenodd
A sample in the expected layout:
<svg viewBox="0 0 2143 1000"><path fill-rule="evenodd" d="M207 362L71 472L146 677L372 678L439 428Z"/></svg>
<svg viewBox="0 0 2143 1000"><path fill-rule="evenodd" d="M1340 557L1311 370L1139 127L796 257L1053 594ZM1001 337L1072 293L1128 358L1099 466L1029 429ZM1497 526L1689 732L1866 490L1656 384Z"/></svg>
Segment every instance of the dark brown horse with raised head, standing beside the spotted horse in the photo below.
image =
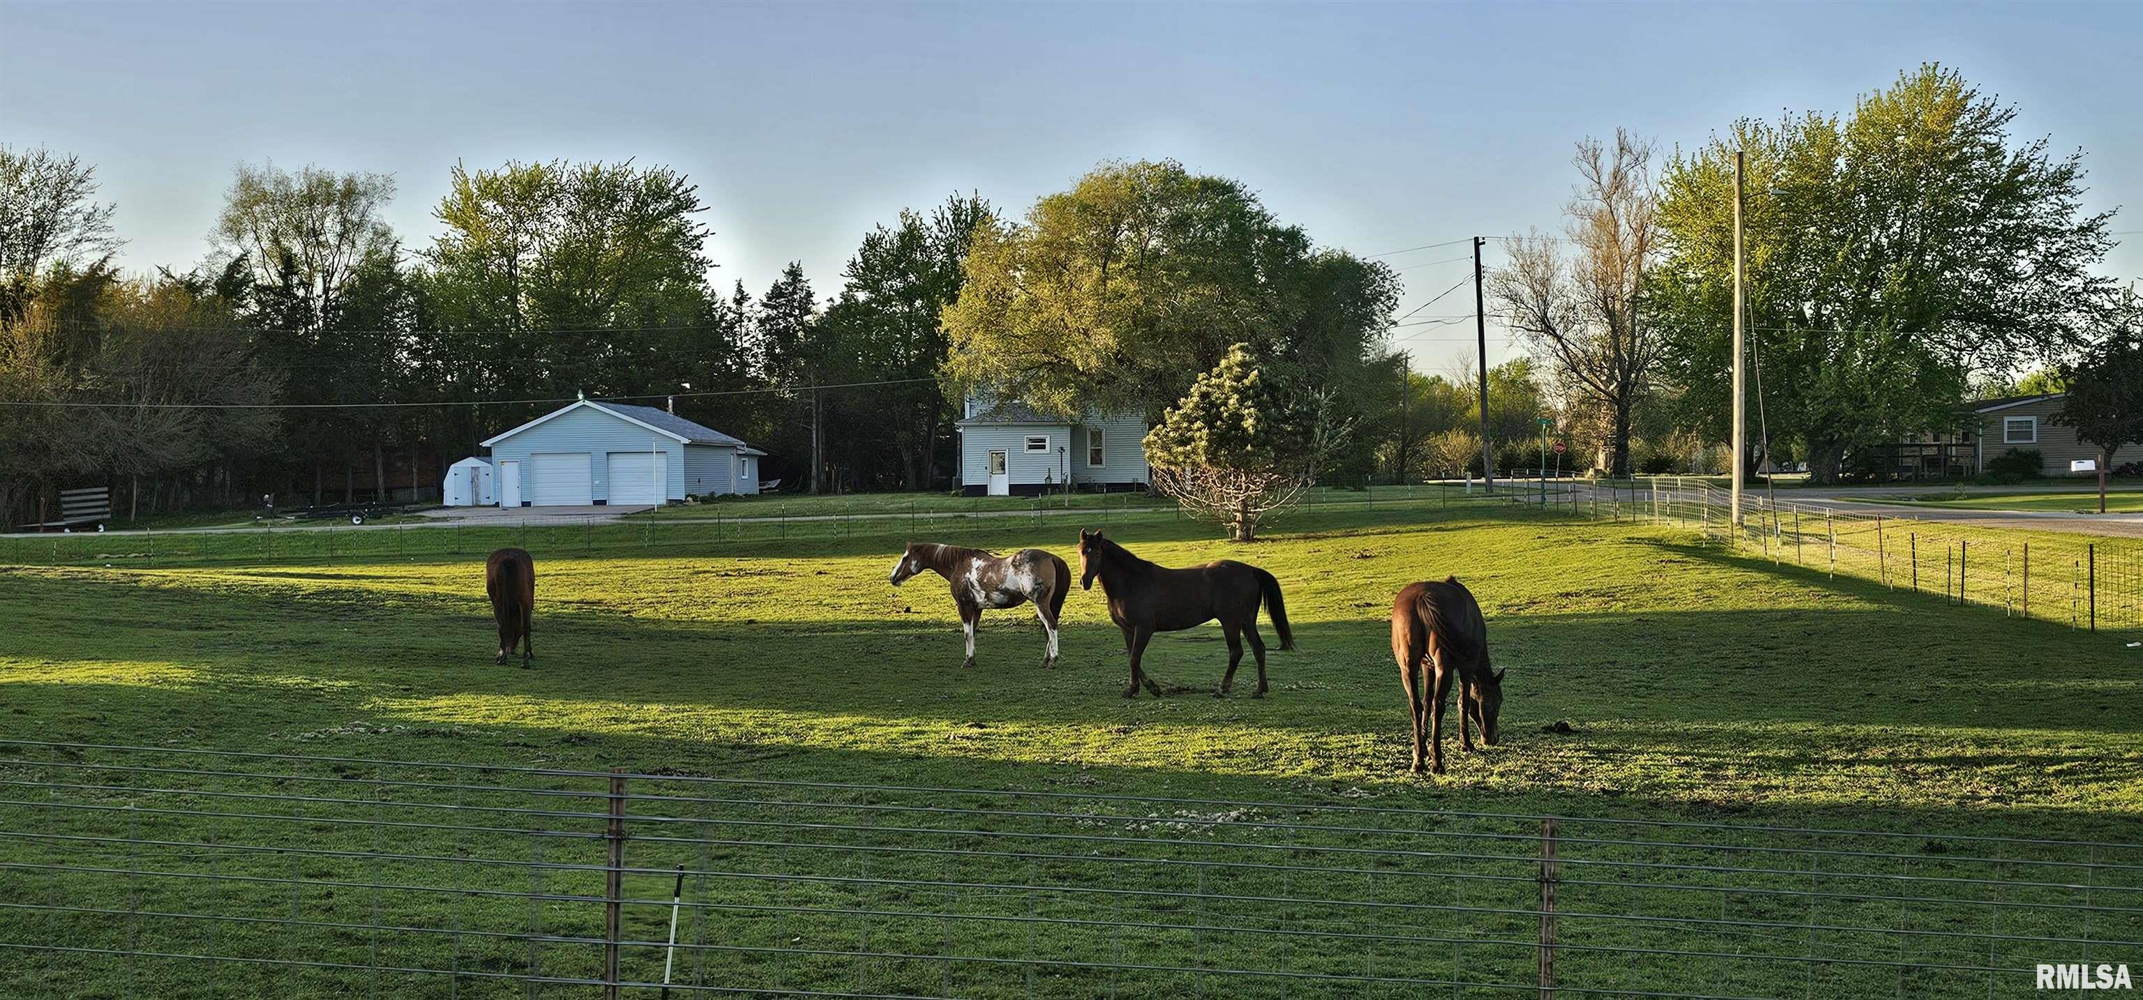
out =
<svg viewBox="0 0 2143 1000"><path fill-rule="evenodd" d="M1279 630L1279 649L1294 649L1294 632L1288 630L1288 606L1279 597L1279 580L1249 563L1222 559L1189 570L1153 565L1099 531L1078 533L1080 587L1093 589L1102 578L1102 593L1108 595L1108 617L1123 630L1123 651L1132 655L1132 685L1125 698L1138 698L1144 685L1155 698L1162 685L1153 683L1138 662L1147 653L1147 640L1155 632L1183 632L1219 619L1228 634L1228 672L1222 675L1213 696L1234 690L1234 668L1243 662L1243 636L1258 657L1258 694L1264 698L1264 638L1258 636L1258 604L1267 606L1273 627Z"/></svg>

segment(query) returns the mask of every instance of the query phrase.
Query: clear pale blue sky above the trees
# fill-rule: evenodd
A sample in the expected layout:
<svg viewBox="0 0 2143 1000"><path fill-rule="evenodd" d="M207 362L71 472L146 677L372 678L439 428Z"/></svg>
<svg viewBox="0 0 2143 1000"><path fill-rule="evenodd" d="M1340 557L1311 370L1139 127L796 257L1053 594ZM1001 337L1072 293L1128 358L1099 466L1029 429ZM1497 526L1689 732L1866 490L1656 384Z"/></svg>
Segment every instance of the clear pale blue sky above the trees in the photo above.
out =
<svg viewBox="0 0 2143 1000"><path fill-rule="evenodd" d="M2143 229L2143 4L688 4L0 0L0 143L96 165L129 270L186 268L238 163L394 176L437 233L448 169L662 163L709 206L716 283L801 261L821 298L874 223L977 191L1009 214L1110 158L1243 180L1318 244L1472 308L1470 236L1562 227L1588 135L1702 146L1849 111L1944 62L2085 152ZM1457 240L1455 246L1421 248ZM2143 276L2143 233L2104 272ZM1500 259L1489 244L1487 263ZM1470 323L1399 328L1449 370ZM1519 349L1489 330L1489 362Z"/></svg>

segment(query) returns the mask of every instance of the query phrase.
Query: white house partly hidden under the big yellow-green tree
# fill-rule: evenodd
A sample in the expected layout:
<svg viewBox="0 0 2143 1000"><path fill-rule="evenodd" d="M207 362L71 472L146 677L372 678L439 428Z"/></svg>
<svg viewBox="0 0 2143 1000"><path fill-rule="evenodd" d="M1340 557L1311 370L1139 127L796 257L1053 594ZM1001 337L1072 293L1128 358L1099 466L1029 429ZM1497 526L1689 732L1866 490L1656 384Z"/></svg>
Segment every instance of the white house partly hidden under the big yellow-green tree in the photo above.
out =
<svg viewBox="0 0 2143 1000"><path fill-rule="evenodd" d="M1091 411L1076 424L1018 400L966 400L960 490L969 497L1033 497L1074 488L1123 490L1147 484L1147 413Z"/></svg>

